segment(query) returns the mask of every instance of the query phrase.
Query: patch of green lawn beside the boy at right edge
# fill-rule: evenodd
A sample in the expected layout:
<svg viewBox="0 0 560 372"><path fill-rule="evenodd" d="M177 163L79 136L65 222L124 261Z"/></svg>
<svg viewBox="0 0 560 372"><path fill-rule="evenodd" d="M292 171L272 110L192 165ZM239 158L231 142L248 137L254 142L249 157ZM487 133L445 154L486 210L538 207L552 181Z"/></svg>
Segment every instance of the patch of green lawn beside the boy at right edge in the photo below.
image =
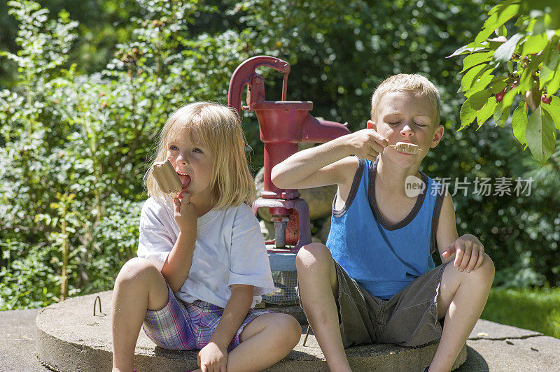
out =
<svg viewBox="0 0 560 372"><path fill-rule="evenodd" d="M493 288L480 317L560 338L560 287Z"/></svg>

